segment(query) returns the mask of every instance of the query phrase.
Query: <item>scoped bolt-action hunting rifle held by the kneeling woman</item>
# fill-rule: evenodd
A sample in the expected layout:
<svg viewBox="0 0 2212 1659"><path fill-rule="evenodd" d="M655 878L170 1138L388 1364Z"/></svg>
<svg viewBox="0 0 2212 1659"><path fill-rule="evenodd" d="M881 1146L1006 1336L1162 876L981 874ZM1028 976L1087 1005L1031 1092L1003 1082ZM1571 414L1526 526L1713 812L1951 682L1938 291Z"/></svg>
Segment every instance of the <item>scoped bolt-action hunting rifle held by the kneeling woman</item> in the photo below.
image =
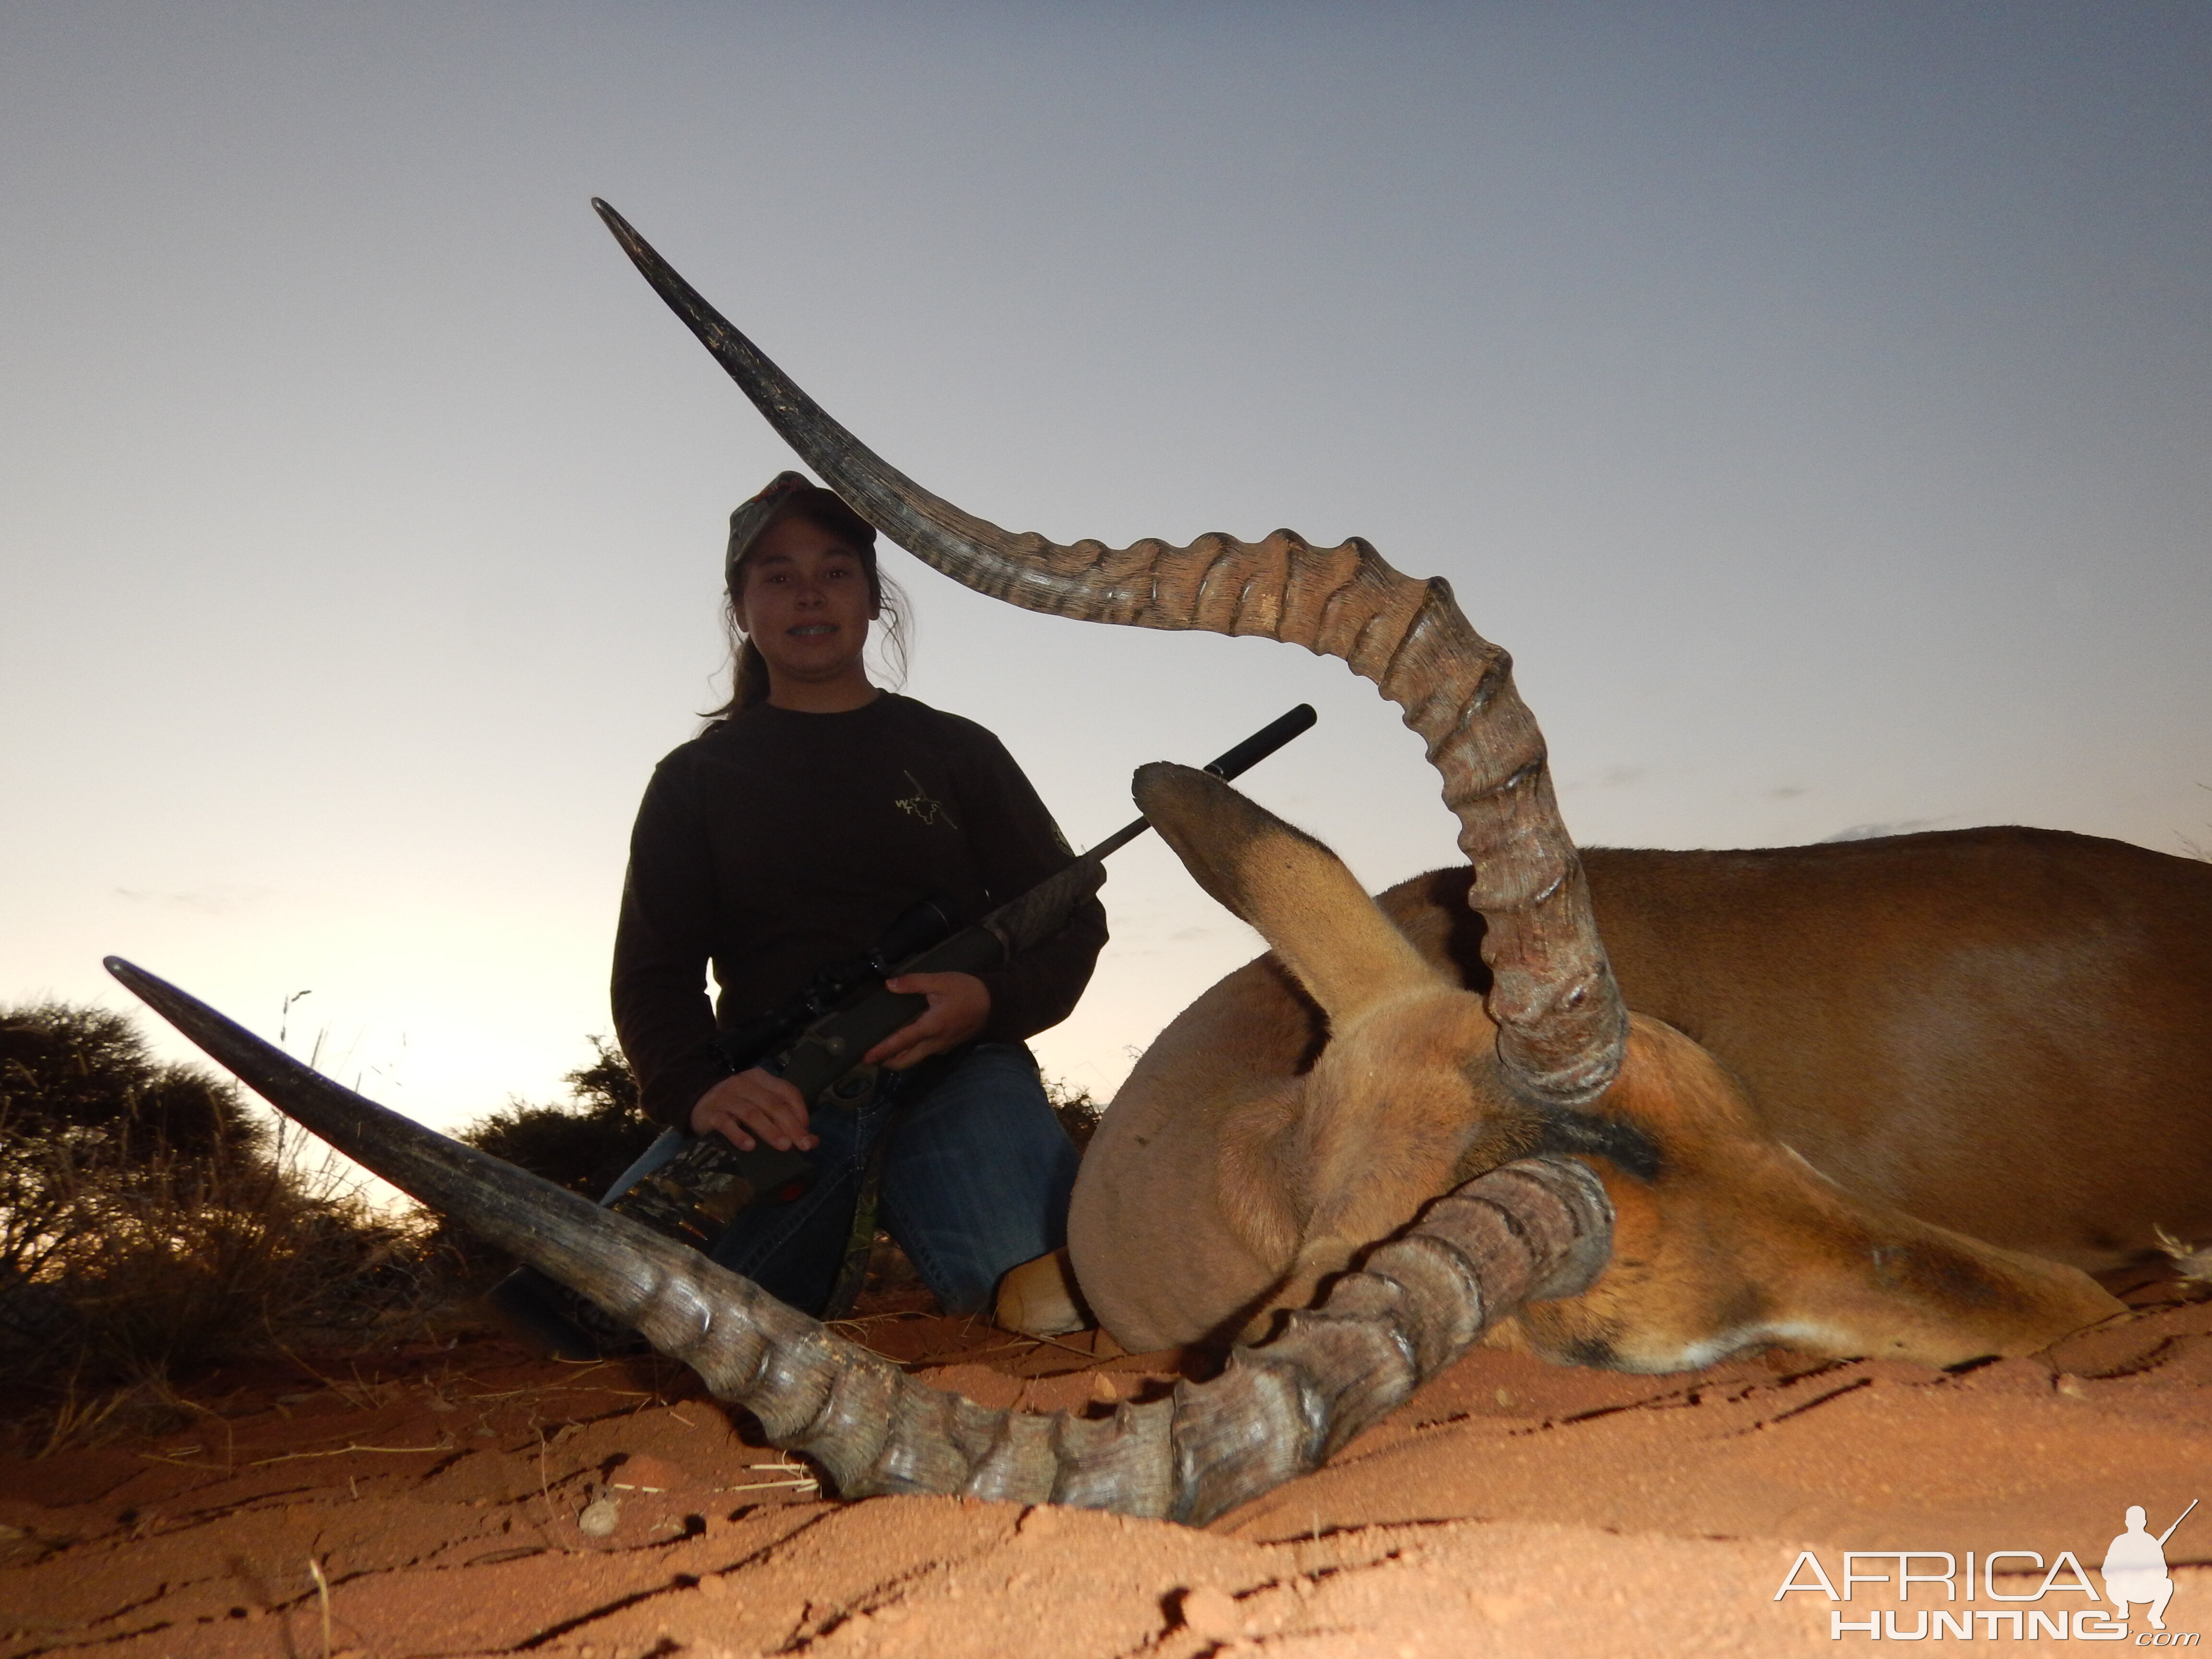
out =
<svg viewBox="0 0 2212 1659"><path fill-rule="evenodd" d="M1290 743L1318 717L1312 703L1252 732L1228 754L1206 763L1217 779L1234 779ZM1124 825L1091 852L1044 878L973 927L953 931L945 905L925 900L900 916L867 956L814 975L805 991L739 1026L717 1042L730 1073L761 1066L794 1088L807 1110L821 1102L860 1106L876 1088L876 1066L860 1060L894 1031L909 1026L929 998L889 991L902 973L980 973L1048 940L1075 907L1106 880L1106 856L1152 825ZM637 1181L608 1208L648 1228L706 1250L748 1203L792 1203L814 1186L814 1164L803 1152L754 1144L741 1152L719 1133L699 1135L675 1159Z"/></svg>

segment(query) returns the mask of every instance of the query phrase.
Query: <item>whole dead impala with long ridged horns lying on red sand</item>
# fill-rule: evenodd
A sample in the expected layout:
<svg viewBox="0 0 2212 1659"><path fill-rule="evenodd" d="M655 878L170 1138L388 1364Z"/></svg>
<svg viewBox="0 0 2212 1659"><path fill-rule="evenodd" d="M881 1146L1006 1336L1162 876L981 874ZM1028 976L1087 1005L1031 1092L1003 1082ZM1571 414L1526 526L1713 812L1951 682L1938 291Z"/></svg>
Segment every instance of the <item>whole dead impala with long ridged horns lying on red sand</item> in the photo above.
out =
<svg viewBox="0 0 2212 1659"><path fill-rule="evenodd" d="M1628 1369L1774 1340L2024 1354L2117 1312L2084 1267L2157 1228L2212 1232L2212 867L2022 830L1584 863L1509 659L1444 582L1290 531L1128 549L1000 531L878 460L597 206L894 542L1031 611L1343 657L1427 741L1471 860L1378 902L1225 783L1137 774L1146 816L1272 951L1152 1044L1071 1217L1079 1294L1126 1347L1248 1345L1212 1383L1104 1418L927 1389L111 960L276 1106L690 1363L845 1495L1203 1522L1484 1334ZM1006 1305L1051 1323L1053 1267L1033 1270Z"/></svg>

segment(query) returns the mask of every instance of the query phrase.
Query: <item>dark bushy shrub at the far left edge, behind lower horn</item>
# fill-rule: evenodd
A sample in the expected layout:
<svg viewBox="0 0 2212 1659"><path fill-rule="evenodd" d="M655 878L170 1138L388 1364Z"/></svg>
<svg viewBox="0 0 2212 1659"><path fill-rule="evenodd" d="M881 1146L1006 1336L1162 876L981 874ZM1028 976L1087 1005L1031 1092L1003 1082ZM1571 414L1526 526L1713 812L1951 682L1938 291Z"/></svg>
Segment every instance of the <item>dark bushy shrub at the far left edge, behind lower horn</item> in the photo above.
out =
<svg viewBox="0 0 2212 1659"><path fill-rule="evenodd" d="M414 1292L409 1221L122 1015L0 1011L0 1385L166 1385Z"/></svg>

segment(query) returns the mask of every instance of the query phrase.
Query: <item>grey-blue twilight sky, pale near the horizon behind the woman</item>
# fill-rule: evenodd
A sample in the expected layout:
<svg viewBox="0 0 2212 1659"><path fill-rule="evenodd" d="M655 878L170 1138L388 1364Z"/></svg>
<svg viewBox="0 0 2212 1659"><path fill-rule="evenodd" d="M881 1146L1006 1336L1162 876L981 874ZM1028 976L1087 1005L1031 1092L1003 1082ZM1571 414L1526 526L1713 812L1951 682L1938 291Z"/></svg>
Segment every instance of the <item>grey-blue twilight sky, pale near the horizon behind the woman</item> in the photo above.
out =
<svg viewBox="0 0 2212 1659"><path fill-rule="evenodd" d="M787 456L591 195L1000 524L1451 577L1584 843L2212 841L2212 7L0 0L0 1002L440 1126L608 1031ZM885 566L1073 841L1312 701L1245 787L1455 858L1340 664ZM1106 902L1102 1093L1256 949Z"/></svg>

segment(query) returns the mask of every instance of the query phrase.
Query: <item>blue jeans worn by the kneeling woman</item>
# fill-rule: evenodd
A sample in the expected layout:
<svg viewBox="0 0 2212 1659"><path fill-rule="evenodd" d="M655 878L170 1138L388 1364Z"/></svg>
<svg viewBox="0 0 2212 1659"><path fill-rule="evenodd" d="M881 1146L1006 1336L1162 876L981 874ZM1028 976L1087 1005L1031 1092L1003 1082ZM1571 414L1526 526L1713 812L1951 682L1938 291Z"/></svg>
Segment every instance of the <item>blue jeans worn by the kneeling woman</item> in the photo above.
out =
<svg viewBox="0 0 2212 1659"><path fill-rule="evenodd" d="M885 1073L858 1110L816 1106L810 1126L821 1146L807 1152L818 1170L814 1190L794 1203L739 1210L708 1254L779 1301L821 1314L845 1263L860 1175L885 1133L878 1225L945 1312L982 1312L1009 1267L1064 1245L1075 1144L1044 1099L1029 1048L982 1042L920 1091L909 1091L911 1082ZM602 1203L690 1139L679 1128L661 1135Z"/></svg>

